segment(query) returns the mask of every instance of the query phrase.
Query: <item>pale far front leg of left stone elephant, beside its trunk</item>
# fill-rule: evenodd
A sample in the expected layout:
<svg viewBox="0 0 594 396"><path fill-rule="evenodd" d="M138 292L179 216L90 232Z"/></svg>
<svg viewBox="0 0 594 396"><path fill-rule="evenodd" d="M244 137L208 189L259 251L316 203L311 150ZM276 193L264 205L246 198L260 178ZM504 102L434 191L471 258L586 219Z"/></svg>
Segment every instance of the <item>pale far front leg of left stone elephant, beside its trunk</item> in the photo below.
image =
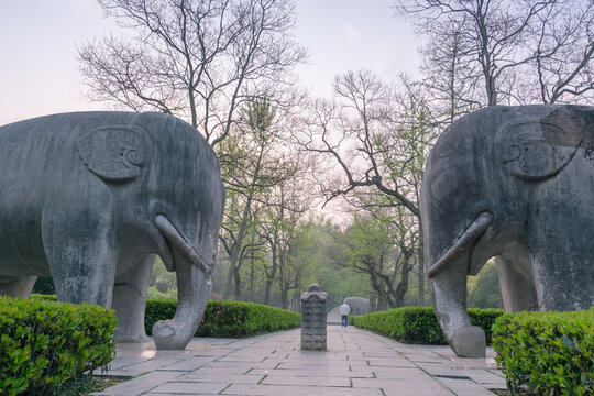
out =
<svg viewBox="0 0 594 396"><path fill-rule="evenodd" d="M116 278L112 308L118 317L114 336L120 342L148 341L144 330L144 311L154 261L154 254L146 254L134 267Z"/></svg>

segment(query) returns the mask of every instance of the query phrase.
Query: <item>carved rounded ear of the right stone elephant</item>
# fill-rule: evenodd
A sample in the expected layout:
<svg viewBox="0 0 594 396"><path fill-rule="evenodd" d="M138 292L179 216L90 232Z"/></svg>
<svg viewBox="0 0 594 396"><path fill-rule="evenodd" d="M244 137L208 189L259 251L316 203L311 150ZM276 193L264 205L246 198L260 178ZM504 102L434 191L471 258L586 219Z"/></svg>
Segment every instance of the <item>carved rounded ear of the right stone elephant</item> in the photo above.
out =
<svg viewBox="0 0 594 396"><path fill-rule="evenodd" d="M559 123L546 119L516 119L503 124L494 141L495 157L522 179L541 180L556 175L573 157L581 143ZM564 136L564 139L559 139Z"/></svg>

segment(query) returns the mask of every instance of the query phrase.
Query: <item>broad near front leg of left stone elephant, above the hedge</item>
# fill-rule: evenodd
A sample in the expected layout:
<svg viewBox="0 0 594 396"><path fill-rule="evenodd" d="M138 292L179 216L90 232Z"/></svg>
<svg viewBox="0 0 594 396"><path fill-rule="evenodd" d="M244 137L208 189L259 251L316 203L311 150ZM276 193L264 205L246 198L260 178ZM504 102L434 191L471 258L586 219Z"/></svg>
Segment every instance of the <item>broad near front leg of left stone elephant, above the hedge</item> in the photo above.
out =
<svg viewBox="0 0 594 396"><path fill-rule="evenodd" d="M117 264L111 213L75 205L44 210L42 239L58 300L110 308Z"/></svg>

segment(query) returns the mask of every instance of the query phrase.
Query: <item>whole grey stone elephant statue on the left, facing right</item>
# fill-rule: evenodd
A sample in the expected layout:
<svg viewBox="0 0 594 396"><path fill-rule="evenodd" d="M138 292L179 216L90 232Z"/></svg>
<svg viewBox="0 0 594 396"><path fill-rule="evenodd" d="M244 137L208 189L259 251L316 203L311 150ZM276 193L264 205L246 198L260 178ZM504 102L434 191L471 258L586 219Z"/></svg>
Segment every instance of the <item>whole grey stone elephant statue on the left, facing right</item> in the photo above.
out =
<svg viewBox="0 0 594 396"><path fill-rule="evenodd" d="M145 341L155 255L178 305L153 327L184 349L211 292L224 187L195 128L162 113L75 112L0 127L0 294L52 275L59 300L113 307L117 339Z"/></svg>

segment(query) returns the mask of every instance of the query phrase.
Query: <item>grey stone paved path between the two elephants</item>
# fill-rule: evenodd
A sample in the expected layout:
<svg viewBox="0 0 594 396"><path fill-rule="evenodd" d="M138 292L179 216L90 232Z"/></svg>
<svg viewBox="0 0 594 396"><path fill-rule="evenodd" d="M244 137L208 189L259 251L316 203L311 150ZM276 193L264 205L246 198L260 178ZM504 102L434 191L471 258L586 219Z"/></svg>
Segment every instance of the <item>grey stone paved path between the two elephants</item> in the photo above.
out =
<svg viewBox="0 0 594 396"><path fill-rule="evenodd" d="M353 327L328 327L327 352L301 352L300 329L249 339L194 339L185 351L121 344L109 375L133 377L94 395L482 396L505 389L493 351L405 345Z"/></svg>

